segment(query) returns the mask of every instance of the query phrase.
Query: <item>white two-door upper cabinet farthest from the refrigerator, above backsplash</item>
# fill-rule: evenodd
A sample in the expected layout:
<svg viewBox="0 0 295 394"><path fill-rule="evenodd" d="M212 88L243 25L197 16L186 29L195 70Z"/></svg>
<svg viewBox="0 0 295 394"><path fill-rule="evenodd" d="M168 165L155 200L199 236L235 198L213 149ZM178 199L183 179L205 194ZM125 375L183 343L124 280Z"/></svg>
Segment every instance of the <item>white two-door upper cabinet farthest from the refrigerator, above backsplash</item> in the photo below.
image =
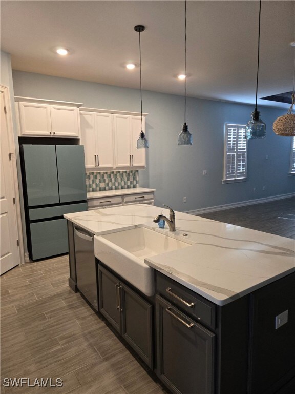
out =
<svg viewBox="0 0 295 394"><path fill-rule="evenodd" d="M142 128L144 130L144 118ZM136 141L141 131L141 117L114 115L115 166L129 168L145 167L145 149L137 149Z"/></svg>

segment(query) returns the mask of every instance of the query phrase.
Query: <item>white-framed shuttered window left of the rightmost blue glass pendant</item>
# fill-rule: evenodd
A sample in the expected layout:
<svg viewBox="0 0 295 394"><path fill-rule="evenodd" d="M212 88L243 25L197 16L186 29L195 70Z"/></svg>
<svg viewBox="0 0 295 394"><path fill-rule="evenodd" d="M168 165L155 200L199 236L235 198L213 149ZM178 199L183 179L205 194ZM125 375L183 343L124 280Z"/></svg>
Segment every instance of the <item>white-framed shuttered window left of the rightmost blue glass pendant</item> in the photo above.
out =
<svg viewBox="0 0 295 394"><path fill-rule="evenodd" d="M247 174L246 125L225 124L223 183L245 181Z"/></svg>

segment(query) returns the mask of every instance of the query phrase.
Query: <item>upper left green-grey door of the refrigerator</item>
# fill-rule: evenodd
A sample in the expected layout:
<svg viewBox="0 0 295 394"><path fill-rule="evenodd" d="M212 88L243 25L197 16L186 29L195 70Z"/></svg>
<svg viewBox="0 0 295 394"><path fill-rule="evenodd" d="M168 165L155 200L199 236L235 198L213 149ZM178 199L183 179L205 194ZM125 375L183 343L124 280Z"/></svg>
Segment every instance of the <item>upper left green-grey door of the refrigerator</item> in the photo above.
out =
<svg viewBox="0 0 295 394"><path fill-rule="evenodd" d="M28 206L57 204L58 180L54 145L23 145Z"/></svg>

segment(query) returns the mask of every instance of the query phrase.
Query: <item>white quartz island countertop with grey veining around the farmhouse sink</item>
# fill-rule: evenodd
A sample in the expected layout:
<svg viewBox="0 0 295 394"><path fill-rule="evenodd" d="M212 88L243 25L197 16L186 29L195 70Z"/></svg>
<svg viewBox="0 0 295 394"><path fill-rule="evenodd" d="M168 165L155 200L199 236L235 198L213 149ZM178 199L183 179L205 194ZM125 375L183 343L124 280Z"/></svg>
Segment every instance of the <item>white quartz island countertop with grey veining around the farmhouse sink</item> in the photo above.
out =
<svg viewBox="0 0 295 394"><path fill-rule="evenodd" d="M195 243L144 262L217 305L225 305L295 272L292 239L181 212L175 212L176 231L169 232L153 222L161 211L168 216L168 209L146 204L64 216L97 235L144 225Z"/></svg>

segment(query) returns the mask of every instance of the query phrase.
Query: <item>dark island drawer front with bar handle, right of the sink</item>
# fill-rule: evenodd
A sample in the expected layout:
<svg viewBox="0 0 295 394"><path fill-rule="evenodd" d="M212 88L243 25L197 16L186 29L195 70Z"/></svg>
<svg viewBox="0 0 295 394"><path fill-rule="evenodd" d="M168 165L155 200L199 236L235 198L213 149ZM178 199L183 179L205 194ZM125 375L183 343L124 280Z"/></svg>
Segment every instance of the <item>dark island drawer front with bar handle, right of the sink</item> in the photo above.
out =
<svg viewBox="0 0 295 394"><path fill-rule="evenodd" d="M165 275L156 273L156 292L200 323L215 329L215 305Z"/></svg>

